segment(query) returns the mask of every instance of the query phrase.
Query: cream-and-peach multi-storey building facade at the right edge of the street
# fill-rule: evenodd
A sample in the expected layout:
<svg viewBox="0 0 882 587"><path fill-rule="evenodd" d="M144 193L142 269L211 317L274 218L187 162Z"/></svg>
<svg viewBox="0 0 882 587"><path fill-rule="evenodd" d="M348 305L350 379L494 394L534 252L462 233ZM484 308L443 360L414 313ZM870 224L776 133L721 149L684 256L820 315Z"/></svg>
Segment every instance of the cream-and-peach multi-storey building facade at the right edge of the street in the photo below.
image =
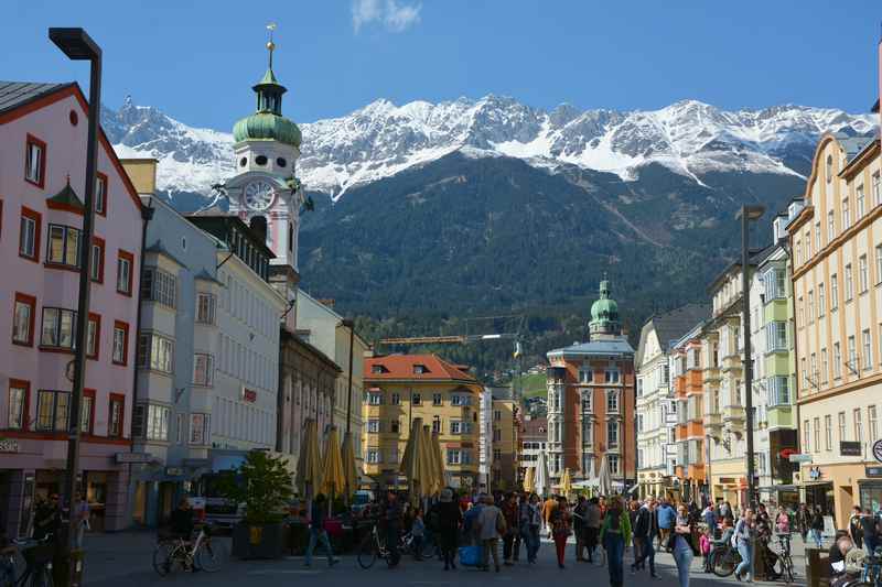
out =
<svg viewBox="0 0 882 587"><path fill-rule="evenodd" d="M803 499L845 528L878 510L882 410L882 159L879 139L827 134L806 207L788 226L796 314Z"/></svg>

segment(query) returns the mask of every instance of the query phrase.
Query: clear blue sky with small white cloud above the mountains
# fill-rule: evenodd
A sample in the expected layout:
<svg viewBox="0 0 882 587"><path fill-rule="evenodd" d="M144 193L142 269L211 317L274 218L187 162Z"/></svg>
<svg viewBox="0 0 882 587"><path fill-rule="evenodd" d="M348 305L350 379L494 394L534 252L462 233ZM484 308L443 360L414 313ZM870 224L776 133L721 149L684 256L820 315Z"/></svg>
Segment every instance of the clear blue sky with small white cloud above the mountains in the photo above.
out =
<svg viewBox="0 0 882 587"><path fill-rule="evenodd" d="M0 78L69 80L46 29L84 26L105 51L104 101L127 95L192 126L250 112L278 23L276 73L295 121L377 98L513 96L530 106L652 109L784 102L867 111L882 3L849 0L8 0Z"/></svg>

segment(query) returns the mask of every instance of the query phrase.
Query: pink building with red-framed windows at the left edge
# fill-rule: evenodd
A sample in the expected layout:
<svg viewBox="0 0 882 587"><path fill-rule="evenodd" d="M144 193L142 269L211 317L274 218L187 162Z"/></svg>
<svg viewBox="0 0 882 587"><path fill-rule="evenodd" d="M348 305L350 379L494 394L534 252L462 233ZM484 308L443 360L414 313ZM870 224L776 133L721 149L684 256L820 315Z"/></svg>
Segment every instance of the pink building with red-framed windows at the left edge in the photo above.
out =
<svg viewBox="0 0 882 587"><path fill-rule="evenodd" d="M87 105L75 84L0 83L0 524L28 532L66 459ZM96 531L126 520L141 203L110 144L98 149L82 487Z"/></svg>

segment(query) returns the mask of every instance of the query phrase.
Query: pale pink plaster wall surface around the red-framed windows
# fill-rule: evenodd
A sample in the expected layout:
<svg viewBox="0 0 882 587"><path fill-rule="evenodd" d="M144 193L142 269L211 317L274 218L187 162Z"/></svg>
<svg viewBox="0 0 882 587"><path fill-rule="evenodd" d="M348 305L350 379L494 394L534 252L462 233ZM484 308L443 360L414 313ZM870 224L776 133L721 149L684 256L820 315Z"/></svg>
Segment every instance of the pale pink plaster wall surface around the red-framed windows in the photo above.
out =
<svg viewBox="0 0 882 587"><path fill-rule="evenodd" d="M78 123L71 122L75 112ZM65 378L65 366L73 359L66 352L40 350L40 330L43 306L58 306L76 309L78 294L78 272L44 267L50 222L82 228L83 216L49 209L46 198L58 193L71 177L71 185L85 199L85 160L87 112L77 97L68 95L35 111L19 118L0 115L0 430L7 427L9 379L30 381L30 430L33 431L37 413L37 390L69 390ZM44 188L24 180L24 157L26 135L32 134L46 143L46 172ZM96 390L94 416L94 445L107 445L107 453L126 450L103 442L107 435L109 394L126 396L123 436L130 437L132 407L132 377L136 349L136 313L138 304L138 269L141 247L141 213L137 198L132 198L130 184L120 175L121 167L115 165L114 155L106 145L99 146L98 171L108 178L107 217L95 216L95 236L105 239L104 283L92 285L92 313L99 314L100 341L98 360L88 360L86 367L86 388ZM28 206L42 215L41 239L37 262L19 257L19 232L22 206ZM117 251L123 249L135 256L132 267L132 295L125 296L116 291ZM34 316L34 345L22 347L11 344L12 311L14 293L20 292L36 297ZM128 363L111 363L112 331L115 320L129 325ZM9 435L0 433L0 436ZM40 435L21 435L24 438ZM45 435L42 435L45 437ZM31 443L28 443L31 444ZM56 443L44 443L55 445ZM57 446L44 446L45 458L63 458ZM85 455L94 455L106 461L107 454L92 446L84 449ZM13 464L25 457L20 454L2 455L4 468L24 465ZM9 465L7 465L9 463ZM97 465L93 464L93 466ZM31 464L31 467L34 465ZM40 467L40 465L36 465ZM85 465L84 465L85 467Z"/></svg>

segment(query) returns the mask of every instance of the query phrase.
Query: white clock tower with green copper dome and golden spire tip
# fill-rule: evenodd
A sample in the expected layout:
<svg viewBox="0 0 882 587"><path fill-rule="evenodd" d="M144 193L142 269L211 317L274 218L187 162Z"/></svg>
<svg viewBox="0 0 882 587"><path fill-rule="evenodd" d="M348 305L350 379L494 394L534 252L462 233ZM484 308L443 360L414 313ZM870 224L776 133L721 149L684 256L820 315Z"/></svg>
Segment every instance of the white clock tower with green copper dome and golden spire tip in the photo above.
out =
<svg viewBox="0 0 882 587"><path fill-rule="evenodd" d="M272 72L270 39L269 67L254 89L255 112L233 127L234 165L236 174L224 184L229 213L266 233L267 247L276 254L270 262L270 281L291 304L297 301L299 213L303 188L295 176L300 156L301 133L298 126L282 116L282 95L286 87ZM289 313L293 329L294 312Z"/></svg>

